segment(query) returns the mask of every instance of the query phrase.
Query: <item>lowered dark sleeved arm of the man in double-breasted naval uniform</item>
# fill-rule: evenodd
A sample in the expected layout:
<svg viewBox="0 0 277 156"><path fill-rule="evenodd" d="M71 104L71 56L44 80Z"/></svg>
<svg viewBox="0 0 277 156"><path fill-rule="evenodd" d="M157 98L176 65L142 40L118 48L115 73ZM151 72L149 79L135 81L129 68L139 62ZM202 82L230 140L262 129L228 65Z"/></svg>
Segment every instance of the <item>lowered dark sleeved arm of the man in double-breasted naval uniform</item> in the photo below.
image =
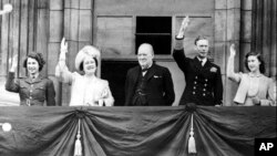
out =
<svg viewBox="0 0 277 156"><path fill-rule="evenodd" d="M215 105L223 104L223 80L222 80L222 72L220 67L217 67L216 79L215 79L215 87L214 87L214 97L215 97Z"/></svg>

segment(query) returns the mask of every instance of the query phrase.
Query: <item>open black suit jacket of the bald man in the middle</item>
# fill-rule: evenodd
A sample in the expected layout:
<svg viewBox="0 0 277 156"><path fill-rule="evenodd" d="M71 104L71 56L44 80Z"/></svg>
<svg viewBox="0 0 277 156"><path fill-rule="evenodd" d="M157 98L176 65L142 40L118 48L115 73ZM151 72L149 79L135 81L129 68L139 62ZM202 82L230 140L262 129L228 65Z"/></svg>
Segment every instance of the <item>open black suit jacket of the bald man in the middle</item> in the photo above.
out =
<svg viewBox="0 0 277 156"><path fill-rule="evenodd" d="M125 81L125 105L132 105L138 76L142 74L141 66L137 65L127 71ZM153 65L148 69L146 76L146 97L150 106L170 106L175 100L173 81L168 69Z"/></svg>

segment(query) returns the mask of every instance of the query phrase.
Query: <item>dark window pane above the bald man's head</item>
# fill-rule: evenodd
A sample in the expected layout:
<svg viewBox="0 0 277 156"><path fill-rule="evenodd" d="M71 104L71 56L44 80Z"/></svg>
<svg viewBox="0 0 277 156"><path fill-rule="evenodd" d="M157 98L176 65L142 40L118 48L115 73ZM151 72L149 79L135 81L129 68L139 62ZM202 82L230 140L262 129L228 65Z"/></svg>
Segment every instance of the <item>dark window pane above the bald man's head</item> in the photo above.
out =
<svg viewBox="0 0 277 156"><path fill-rule="evenodd" d="M135 48L142 43L153 45L155 54L171 54L172 18L171 17L136 17Z"/></svg>

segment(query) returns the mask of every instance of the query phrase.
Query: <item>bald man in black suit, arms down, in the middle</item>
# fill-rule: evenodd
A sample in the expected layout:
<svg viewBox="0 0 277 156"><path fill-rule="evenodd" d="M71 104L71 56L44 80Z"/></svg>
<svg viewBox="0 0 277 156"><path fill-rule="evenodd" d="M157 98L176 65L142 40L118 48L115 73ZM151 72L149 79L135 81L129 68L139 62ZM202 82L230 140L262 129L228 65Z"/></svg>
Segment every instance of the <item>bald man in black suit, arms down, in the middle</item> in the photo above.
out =
<svg viewBox="0 0 277 156"><path fill-rule="evenodd" d="M140 45L137 66L130 69L125 82L126 106L170 106L175 100L171 72L153 62L154 50Z"/></svg>

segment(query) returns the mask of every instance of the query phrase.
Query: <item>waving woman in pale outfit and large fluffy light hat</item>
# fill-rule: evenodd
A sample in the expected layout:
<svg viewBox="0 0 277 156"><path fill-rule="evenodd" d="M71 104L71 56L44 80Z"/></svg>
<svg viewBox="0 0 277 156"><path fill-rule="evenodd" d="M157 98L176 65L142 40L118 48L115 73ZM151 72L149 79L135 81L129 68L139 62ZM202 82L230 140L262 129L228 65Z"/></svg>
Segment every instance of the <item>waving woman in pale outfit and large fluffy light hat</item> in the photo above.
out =
<svg viewBox="0 0 277 156"><path fill-rule="evenodd" d="M65 65L68 43L61 42L60 60L55 75L64 83L72 84L70 106L112 106L114 98L105 80L96 77L100 51L91 45L84 46L75 58L75 69L83 73L70 72Z"/></svg>

